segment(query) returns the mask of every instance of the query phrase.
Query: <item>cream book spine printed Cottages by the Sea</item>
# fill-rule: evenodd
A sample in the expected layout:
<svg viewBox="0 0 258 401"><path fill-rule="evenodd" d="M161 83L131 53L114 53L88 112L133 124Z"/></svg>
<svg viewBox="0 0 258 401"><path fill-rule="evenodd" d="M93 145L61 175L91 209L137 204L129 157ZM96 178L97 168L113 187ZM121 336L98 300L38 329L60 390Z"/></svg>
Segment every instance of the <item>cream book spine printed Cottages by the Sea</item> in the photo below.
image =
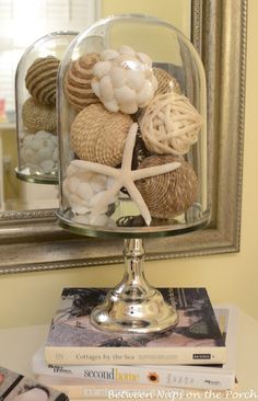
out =
<svg viewBox="0 0 258 401"><path fill-rule="evenodd" d="M226 360L225 347L45 347L52 365L214 365Z"/></svg>

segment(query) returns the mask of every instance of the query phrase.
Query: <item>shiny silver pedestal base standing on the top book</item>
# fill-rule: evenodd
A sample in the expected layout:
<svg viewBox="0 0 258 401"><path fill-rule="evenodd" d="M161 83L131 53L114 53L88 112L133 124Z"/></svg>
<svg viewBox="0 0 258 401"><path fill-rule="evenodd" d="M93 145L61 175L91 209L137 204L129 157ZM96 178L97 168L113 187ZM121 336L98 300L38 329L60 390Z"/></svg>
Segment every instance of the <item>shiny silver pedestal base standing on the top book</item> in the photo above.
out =
<svg viewBox="0 0 258 401"><path fill-rule="evenodd" d="M126 240L124 254L124 279L107 294L105 302L92 311L92 324L110 332L139 334L173 328L178 320L175 308L168 306L144 277L142 240Z"/></svg>

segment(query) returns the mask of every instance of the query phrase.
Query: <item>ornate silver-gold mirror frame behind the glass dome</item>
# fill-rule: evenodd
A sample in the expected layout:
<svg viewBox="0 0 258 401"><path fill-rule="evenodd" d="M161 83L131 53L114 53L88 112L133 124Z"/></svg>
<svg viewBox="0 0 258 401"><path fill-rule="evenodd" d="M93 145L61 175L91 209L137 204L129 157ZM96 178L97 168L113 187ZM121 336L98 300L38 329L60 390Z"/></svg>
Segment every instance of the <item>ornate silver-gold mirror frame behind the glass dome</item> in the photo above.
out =
<svg viewBox="0 0 258 401"><path fill-rule="evenodd" d="M244 148L246 0L192 0L192 42L208 83L209 194L204 230L145 240L146 260L239 251ZM71 234L55 210L0 213L0 273L121 262L122 241Z"/></svg>

